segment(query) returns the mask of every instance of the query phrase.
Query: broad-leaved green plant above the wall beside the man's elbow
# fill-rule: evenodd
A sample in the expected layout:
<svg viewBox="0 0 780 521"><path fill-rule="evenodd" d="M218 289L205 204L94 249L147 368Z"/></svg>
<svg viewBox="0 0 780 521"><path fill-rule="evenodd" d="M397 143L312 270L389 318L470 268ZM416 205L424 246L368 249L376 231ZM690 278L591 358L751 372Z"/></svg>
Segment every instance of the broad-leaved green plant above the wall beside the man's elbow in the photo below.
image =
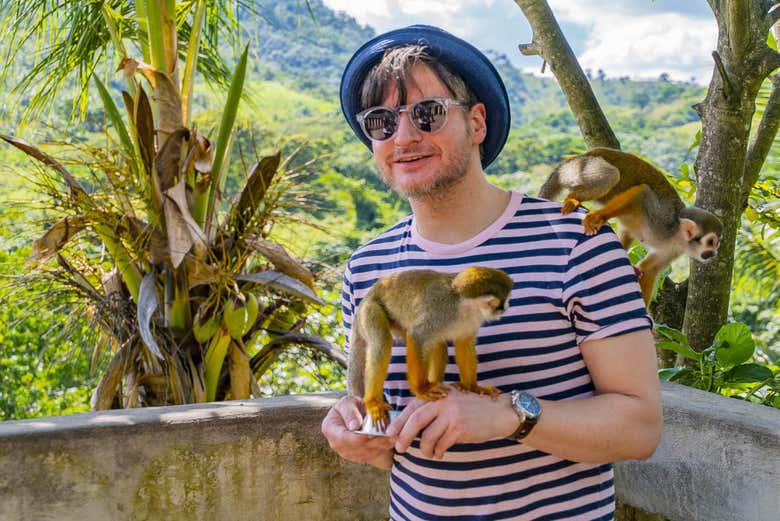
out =
<svg viewBox="0 0 780 521"><path fill-rule="evenodd" d="M755 361L756 345L745 324L724 325L701 353L676 329L658 325L656 333L664 338L657 347L693 362L661 369L661 379L780 409L780 367Z"/></svg>

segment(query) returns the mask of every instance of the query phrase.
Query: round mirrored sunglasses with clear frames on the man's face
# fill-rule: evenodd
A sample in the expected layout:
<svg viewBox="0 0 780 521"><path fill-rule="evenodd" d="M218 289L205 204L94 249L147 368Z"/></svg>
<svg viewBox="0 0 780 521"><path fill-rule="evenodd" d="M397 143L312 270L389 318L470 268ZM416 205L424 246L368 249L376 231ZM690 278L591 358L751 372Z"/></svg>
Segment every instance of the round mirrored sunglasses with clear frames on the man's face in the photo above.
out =
<svg viewBox="0 0 780 521"><path fill-rule="evenodd" d="M409 121L420 132L432 134L442 129L447 123L449 107L468 107L465 101L447 98L427 98L401 105L400 107L370 107L357 114L357 120L363 133L371 141L387 141L398 130L398 122L402 112L409 115Z"/></svg>

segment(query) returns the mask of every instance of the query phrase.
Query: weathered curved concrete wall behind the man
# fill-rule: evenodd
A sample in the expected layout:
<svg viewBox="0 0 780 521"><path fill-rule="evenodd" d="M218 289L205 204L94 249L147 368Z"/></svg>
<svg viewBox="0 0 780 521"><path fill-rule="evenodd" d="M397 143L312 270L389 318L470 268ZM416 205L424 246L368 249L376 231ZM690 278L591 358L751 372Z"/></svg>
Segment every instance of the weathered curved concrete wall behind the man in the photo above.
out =
<svg viewBox="0 0 780 521"><path fill-rule="evenodd" d="M0 520L385 519L387 473L320 435L337 397L0 423ZM616 467L618 519L777 520L780 411L674 384L663 398L656 454Z"/></svg>

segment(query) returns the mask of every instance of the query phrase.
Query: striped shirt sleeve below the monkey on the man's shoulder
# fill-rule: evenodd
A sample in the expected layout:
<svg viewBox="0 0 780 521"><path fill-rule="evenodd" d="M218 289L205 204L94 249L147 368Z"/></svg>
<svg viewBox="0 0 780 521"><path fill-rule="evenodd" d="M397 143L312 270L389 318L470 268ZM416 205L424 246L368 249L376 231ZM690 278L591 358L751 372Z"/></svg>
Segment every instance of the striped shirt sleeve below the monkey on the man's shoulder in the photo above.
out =
<svg viewBox="0 0 780 521"><path fill-rule="evenodd" d="M569 253L563 302L579 344L653 327L634 268L608 226L583 234Z"/></svg>

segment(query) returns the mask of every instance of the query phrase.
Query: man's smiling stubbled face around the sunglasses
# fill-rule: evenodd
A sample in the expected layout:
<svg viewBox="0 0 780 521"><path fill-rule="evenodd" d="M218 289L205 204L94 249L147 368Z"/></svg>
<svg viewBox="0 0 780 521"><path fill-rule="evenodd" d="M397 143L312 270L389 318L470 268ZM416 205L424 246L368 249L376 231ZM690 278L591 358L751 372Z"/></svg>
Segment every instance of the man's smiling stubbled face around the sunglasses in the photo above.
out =
<svg viewBox="0 0 780 521"><path fill-rule="evenodd" d="M405 104L425 98L452 98L452 94L427 66L412 69L413 82L406 85ZM398 106L398 93L391 89L382 100L385 107ZM441 195L474 169L480 170L478 145L485 139L485 108L451 106L444 127L431 134L418 130L402 113L398 130L387 141L374 141L374 160L390 188L410 199Z"/></svg>

